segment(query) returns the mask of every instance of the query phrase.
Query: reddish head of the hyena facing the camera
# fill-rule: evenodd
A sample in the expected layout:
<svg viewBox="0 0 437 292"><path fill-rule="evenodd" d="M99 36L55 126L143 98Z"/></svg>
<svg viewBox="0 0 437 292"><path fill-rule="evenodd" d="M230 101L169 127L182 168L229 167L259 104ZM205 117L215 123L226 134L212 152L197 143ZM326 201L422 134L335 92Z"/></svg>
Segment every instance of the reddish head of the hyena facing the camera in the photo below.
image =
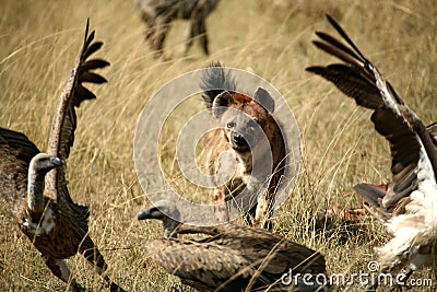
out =
<svg viewBox="0 0 437 292"><path fill-rule="evenodd" d="M265 127L273 110L272 96L261 87L253 97L224 91L212 104L213 116L224 129L231 147L240 154L249 153L265 140Z"/></svg>

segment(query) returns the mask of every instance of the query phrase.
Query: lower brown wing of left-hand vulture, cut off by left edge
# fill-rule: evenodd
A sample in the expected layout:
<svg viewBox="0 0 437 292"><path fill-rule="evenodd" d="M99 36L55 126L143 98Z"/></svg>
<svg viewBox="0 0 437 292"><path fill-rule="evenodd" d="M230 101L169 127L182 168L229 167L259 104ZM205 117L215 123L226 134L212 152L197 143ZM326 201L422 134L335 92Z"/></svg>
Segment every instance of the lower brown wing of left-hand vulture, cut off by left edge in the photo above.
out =
<svg viewBox="0 0 437 292"><path fill-rule="evenodd" d="M0 128L0 194L12 211L20 212L20 200L27 197L27 170L38 148L21 132Z"/></svg>

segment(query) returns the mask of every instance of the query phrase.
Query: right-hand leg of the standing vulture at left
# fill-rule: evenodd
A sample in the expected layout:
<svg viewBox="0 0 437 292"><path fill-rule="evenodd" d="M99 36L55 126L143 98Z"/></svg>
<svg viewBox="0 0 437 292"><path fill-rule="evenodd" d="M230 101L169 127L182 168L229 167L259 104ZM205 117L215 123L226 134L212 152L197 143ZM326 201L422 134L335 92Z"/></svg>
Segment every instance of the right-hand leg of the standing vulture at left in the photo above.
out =
<svg viewBox="0 0 437 292"><path fill-rule="evenodd" d="M98 275L101 275L107 285L110 288L110 291L125 291L118 284L114 283L107 275L104 275L108 266L105 262L105 258L98 250L97 246L95 246L93 240L90 236L86 236L79 248L80 253L83 254L85 259L94 266L97 270Z"/></svg>

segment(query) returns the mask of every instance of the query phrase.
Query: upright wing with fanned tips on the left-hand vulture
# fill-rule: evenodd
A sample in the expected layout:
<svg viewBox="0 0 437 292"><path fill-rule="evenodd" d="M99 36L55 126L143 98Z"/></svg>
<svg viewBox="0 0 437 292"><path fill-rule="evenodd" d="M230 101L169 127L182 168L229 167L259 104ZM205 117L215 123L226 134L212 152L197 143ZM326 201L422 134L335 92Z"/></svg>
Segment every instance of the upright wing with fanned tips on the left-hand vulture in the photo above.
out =
<svg viewBox="0 0 437 292"><path fill-rule="evenodd" d="M74 107L79 107L83 101L96 98L94 93L83 86L83 83L105 83L105 78L92 71L109 65L103 59L87 60L88 57L97 51L103 45L102 42L93 43L94 31L88 34L88 26L90 20L86 22L85 38L76 65L71 71L70 79L59 97L58 108L51 125L48 140L47 153L58 156L62 161L63 165L67 165L66 160L70 154L70 148L74 143L74 130L76 128ZM56 199L58 201L60 199L67 199L71 202L67 189L64 170L62 167L52 170L47 174L46 190L49 190L49 194L56 194Z"/></svg>

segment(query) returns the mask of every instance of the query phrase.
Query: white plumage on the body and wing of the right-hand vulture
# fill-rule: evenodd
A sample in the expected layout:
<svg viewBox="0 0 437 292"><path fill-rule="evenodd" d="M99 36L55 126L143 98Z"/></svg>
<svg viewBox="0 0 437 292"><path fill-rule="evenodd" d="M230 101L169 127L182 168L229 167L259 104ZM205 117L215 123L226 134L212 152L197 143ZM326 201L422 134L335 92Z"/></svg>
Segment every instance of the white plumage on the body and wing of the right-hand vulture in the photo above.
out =
<svg viewBox="0 0 437 292"><path fill-rule="evenodd" d="M392 96L387 86L386 80L380 75L375 67L370 67L381 97L387 107L391 108L395 115L402 117L410 125L409 120L402 115L400 105ZM405 105L408 115L418 119L414 112ZM410 195L411 202L405 206L405 213L391 218L386 222L386 227L393 237L382 247L377 248L382 267L399 270L404 264L412 269L423 266L427 261L420 255L420 248L432 244L436 237L437 226L437 185L430 160L426 153L421 138L416 133L420 143L420 160L417 162L417 189ZM426 255L430 257L429 255Z"/></svg>

